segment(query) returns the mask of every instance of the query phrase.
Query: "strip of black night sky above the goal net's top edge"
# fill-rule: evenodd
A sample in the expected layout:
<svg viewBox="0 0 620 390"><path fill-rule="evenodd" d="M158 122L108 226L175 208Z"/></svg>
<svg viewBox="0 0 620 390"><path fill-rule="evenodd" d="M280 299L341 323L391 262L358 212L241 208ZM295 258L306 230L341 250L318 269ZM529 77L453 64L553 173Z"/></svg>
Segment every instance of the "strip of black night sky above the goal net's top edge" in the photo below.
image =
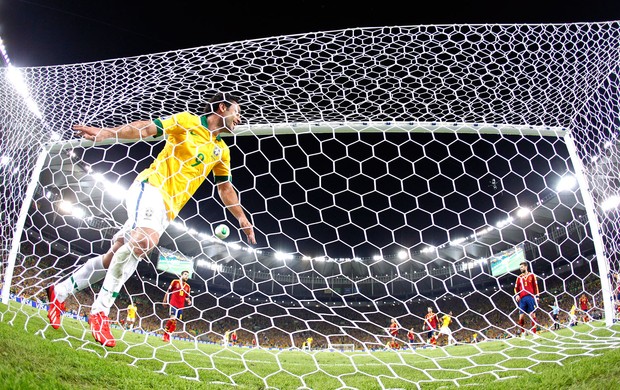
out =
<svg viewBox="0 0 620 390"><path fill-rule="evenodd" d="M620 19L613 0L418 3L1 0L0 36L13 65L30 67L355 27Z"/></svg>

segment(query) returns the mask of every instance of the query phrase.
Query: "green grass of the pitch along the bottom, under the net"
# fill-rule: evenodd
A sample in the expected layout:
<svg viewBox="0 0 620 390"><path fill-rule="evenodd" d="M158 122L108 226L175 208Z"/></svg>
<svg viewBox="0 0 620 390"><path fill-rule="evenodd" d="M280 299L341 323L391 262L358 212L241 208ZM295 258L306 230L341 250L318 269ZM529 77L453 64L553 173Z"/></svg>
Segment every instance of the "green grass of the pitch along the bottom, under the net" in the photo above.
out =
<svg viewBox="0 0 620 390"><path fill-rule="evenodd" d="M535 340L377 352L225 348L180 340L168 344L115 329L118 344L105 349L91 340L86 323L63 318L63 327L54 330L45 311L37 316L34 308L11 305L18 310L0 305L2 388L620 387L620 350L605 341L618 337L617 325L581 325Z"/></svg>

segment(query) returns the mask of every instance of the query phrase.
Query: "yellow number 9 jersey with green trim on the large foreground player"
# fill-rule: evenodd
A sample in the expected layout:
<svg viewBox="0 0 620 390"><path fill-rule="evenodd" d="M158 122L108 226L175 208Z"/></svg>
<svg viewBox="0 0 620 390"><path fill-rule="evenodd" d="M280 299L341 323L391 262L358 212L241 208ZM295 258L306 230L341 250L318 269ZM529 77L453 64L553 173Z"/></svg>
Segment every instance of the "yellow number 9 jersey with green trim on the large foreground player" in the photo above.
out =
<svg viewBox="0 0 620 390"><path fill-rule="evenodd" d="M181 112L155 119L159 137L166 145L137 181L159 188L172 221L213 171L214 182L231 180L230 150L207 127L207 117Z"/></svg>

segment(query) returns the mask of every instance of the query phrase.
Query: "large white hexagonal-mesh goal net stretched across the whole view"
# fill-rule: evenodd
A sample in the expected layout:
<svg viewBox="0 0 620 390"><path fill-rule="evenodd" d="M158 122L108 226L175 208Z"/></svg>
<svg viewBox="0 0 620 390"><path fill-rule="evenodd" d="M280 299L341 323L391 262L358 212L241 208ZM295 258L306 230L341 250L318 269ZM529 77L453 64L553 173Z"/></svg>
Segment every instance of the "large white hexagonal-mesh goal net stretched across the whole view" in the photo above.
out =
<svg viewBox="0 0 620 390"><path fill-rule="evenodd" d="M3 68L0 320L250 387L461 385L617 348L619 27L356 28ZM92 144L71 126L201 114L216 91L241 96L224 139L258 244L208 178L124 285L115 348L88 331L100 281L52 329L46 287L110 248L123 194L165 142ZM525 341L523 261L540 288ZM165 345L161 302L183 269L193 301ZM438 327L452 313L450 331L429 331L429 313Z"/></svg>

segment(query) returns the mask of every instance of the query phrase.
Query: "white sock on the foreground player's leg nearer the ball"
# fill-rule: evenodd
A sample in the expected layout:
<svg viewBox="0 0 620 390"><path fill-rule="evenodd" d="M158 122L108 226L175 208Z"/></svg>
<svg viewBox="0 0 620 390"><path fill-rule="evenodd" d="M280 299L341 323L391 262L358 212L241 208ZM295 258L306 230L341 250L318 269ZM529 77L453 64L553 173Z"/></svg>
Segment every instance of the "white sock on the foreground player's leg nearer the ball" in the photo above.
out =
<svg viewBox="0 0 620 390"><path fill-rule="evenodd" d="M103 312L106 316L110 314L110 308L114 304L118 293L125 282L136 271L139 262L140 258L133 253L129 244L123 245L116 251L103 280L101 291L97 294L91 308L91 314L99 312Z"/></svg>

